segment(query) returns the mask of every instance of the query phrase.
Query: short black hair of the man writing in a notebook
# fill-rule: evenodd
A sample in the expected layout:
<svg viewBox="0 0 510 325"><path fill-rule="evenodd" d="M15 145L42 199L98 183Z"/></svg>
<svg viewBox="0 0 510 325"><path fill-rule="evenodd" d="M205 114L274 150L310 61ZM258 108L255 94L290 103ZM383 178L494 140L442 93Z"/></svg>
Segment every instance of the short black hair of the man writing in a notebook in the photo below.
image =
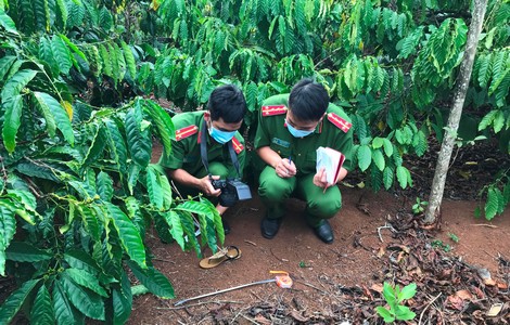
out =
<svg viewBox="0 0 510 325"><path fill-rule="evenodd" d="M326 88L308 78L294 84L289 95L289 108L302 121L319 120L329 104L330 96Z"/></svg>

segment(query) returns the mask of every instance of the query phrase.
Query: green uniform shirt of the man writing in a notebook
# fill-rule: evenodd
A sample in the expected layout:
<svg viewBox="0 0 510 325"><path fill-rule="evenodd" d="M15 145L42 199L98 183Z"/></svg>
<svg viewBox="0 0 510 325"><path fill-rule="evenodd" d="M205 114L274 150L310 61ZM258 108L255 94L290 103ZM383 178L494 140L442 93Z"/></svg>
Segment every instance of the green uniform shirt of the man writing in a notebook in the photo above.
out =
<svg viewBox="0 0 510 325"><path fill-rule="evenodd" d="M326 116L314 133L293 136L285 125L289 94L276 95L263 103L255 136L255 148L270 146L282 158L292 158L297 176L316 173L317 148L331 147L345 155L343 167L352 169L353 129L342 108L329 104Z"/></svg>

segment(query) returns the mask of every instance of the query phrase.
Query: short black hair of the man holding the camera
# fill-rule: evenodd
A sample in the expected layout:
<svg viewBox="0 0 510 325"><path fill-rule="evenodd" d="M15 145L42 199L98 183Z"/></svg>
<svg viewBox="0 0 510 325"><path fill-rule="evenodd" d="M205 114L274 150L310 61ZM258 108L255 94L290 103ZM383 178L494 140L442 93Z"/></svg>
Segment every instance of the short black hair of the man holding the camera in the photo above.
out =
<svg viewBox="0 0 510 325"><path fill-rule="evenodd" d="M207 109L213 120L222 118L227 123L237 123L246 114L246 100L238 87L225 84L213 90Z"/></svg>

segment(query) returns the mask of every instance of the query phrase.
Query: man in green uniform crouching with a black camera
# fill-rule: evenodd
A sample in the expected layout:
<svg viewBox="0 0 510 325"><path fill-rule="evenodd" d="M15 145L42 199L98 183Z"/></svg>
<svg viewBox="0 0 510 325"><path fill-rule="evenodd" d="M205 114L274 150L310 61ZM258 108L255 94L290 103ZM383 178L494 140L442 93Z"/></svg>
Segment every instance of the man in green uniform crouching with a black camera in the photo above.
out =
<svg viewBox="0 0 510 325"><path fill-rule="evenodd" d="M171 142L170 156L163 155L160 165L167 168L169 178L183 196L202 192L216 202L221 191L213 186L212 179L242 177L245 151L238 130L245 113L246 101L242 91L227 84L211 93L207 110L177 114L171 118L176 140ZM203 139L206 142L205 161L201 154ZM218 203L216 208L222 216L228 207ZM224 231L228 234L230 226L225 219L222 221Z"/></svg>

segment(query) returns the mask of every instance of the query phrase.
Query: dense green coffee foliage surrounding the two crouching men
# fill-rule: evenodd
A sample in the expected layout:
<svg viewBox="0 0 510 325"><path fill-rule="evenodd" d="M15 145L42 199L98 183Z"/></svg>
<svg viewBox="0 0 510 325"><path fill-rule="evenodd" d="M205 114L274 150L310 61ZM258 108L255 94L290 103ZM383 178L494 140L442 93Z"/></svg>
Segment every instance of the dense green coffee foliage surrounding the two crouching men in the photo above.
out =
<svg viewBox="0 0 510 325"><path fill-rule="evenodd" d="M507 0L489 1L457 134L506 156L509 20ZM211 203L177 199L150 164L153 136L170 153L175 130L149 99L191 110L237 83L250 141L260 102L311 76L350 115L367 183L405 188L404 157L445 132L469 24L466 0L0 0L0 274L21 283L0 323L22 308L35 323L123 323L127 269L174 295L148 226L197 253L222 243ZM509 178L483 188L487 219L508 205Z"/></svg>

